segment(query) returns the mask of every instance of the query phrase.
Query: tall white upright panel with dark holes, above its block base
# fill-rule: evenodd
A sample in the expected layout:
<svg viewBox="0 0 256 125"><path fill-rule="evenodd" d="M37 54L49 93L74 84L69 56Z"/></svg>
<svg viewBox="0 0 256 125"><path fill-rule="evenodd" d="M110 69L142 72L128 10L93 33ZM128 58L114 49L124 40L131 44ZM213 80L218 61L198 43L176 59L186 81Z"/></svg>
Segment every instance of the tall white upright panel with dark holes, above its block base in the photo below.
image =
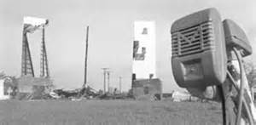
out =
<svg viewBox="0 0 256 125"><path fill-rule="evenodd" d="M132 73L137 79L149 78L149 74L156 78L154 21L134 22Z"/></svg>

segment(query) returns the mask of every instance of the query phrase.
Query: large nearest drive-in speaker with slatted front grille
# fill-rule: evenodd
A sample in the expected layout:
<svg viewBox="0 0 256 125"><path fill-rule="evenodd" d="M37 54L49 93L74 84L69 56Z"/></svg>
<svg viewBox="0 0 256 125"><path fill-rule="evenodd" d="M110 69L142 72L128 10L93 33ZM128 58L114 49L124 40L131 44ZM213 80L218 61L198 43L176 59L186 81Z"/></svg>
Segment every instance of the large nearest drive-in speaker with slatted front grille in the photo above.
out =
<svg viewBox="0 0 256 125"><path fill-rule="evenodd" d="M216 9L189 14L172 24L172 72L182 88L219 85L226 78L224 29Z"/></svg>

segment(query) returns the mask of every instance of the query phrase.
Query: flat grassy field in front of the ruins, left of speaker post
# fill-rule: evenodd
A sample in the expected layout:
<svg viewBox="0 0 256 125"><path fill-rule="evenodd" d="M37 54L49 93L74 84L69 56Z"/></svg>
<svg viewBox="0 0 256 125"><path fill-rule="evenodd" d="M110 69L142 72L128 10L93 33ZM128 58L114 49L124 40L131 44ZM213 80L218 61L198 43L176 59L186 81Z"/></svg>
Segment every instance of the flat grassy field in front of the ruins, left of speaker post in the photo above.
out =
<svg viewBox="0 0 256 125"><path fill-rule="evenodd" d="M0 101L2 124L217 125L217 103L135 100Z"/></svg>

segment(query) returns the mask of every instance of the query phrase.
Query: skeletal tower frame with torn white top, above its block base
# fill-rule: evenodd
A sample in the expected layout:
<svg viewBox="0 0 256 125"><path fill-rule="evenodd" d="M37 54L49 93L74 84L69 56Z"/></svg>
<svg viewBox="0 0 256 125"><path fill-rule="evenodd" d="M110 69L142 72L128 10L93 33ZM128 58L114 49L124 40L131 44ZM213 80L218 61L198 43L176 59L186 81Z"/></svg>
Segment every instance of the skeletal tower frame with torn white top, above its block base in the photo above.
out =
<svg viewBox="0 0 256 125"><path fill-rule="evenodd" d="M45 29L48 25L48 20L25 17L22 32L22 55L21 55L21 77L32 76L35 77L32 56L27 40L27 33L33 33L38 29L42 29L42 43L41 43L41 60L40 60L40 77L49 77L49 64L47 60L47 53L45 47Z"/></svg>

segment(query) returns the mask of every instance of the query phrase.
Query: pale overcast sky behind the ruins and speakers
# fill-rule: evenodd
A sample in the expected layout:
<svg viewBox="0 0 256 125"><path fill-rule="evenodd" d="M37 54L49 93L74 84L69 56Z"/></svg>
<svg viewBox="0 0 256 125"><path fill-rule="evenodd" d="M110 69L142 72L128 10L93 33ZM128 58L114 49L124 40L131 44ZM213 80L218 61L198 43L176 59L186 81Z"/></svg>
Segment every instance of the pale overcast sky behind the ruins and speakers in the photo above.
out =
<svg viewBox="0 0 256 125"><path fill-rule="evenodd" d="M172 22L214 7L222 19L236 21L256 48L255 0L0 0L0 70L20 77L21 33L24 16L49 19L46 48L50 76L58 88L79 88L84 81L85 26L90 26L88 82L102 89L102 67L111 69L111 84L123 77L131 87L134 20L156 23L157 76L164 92L179 89L172 77ZM29 35L35 73L39 75L41 32ZM255 60L253 54L247 60Z"/></svg>

